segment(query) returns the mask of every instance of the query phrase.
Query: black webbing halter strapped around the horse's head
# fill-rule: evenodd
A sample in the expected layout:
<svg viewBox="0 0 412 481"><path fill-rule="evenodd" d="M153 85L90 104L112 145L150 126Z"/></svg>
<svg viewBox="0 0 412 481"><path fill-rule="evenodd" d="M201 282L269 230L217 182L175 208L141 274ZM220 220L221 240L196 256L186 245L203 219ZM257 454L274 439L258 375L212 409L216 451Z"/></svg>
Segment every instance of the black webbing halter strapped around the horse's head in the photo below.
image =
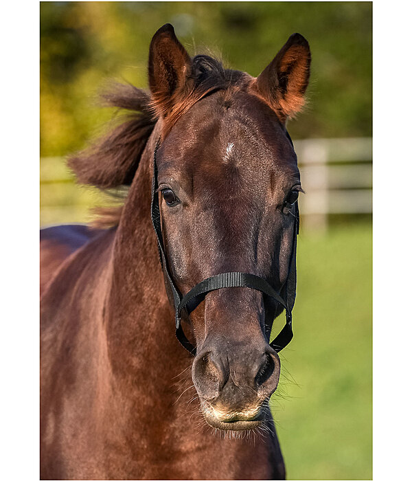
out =
<svg viewBox="0 0 412 481"><path fill-rule="evenodd" d="M286 132L290 143L289 134ZM249 287L251 289L256 289L275 301L281 304L286 311L286 324L282 331L273 339L270 346L278 353L285 346L289 344L293 337L292 331L292 309L295 304L296 297L296 244L297 244L297 234L299 234L299 210L297 207L297 202L294 204L294 216L295 223L293 227L293 246L292 253L290 256L288 278L286 279L286 298L282 298L273 287L271 287L266 280L255 276L254 274L244 273L244 272L225 272L216 274L216 276L211 276L198 284L196 284L193 289L186 293L183 297L179 290L174 285L172 276L170 276L170 271L168 269L168 262L165 256L165 248L163 244L163 236L161 233L161 219L160 219L160 208L159 208L159 194L157 193L158 183L157 183L157 150L159 148L160 139L158 139L155 146L155 152L153 153L153 179L152 179L152 206L151 206L151 216L152 224L155 227L155 232L157 236L157 243L159 247L159 256L161 267L163 268L163 273L165 278L170 285L170 290L173 295L174 310L175 310L175 321L176 321L176 337L179 339L181 345L187 349L192 355L196 355L196 348L187 339L183 328L181 326L181 311L186 309L187 314L190 314L198 304L200 304L207 293L211 291L216 291L217 289L223 289L225 287ZM292 144L293 145L293 144Z"/></svg>

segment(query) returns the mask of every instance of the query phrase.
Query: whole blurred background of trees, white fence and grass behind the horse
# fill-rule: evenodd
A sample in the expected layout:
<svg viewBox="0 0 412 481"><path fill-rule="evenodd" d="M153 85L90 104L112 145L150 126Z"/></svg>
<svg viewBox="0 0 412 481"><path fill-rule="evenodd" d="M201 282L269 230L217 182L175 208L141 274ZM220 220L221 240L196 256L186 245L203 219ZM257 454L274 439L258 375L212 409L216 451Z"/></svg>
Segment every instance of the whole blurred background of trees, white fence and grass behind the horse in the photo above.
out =
<svg viewBox="0 0 412 481"><path fill-rule="evenodd" d="M253 76L293 32L310 43L308 104L288 124L306 192L295 338L271 403L288 479L370 480L371 2L41 2L42 226L108 202L65 156L113 117L96 101L107 80L147 87L164 23L190 54Z"/></svg>

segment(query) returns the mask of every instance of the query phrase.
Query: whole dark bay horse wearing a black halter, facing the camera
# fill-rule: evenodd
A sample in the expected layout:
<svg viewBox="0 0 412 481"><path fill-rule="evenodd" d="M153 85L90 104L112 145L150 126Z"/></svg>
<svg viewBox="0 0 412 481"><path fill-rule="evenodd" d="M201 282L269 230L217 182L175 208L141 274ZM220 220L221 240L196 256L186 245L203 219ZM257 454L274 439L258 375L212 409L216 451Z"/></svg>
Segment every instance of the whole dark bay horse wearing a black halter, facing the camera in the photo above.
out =
<svg viewBox="0 0 412 481"><path fill-rule="evenodd" d="M41 479L285 479L268 399L302 191L286 122L309 75L300 34L253 77L166 24L149 91L102 94L125 116L68 164L126 194L109 227L42 231Z"/></svg>

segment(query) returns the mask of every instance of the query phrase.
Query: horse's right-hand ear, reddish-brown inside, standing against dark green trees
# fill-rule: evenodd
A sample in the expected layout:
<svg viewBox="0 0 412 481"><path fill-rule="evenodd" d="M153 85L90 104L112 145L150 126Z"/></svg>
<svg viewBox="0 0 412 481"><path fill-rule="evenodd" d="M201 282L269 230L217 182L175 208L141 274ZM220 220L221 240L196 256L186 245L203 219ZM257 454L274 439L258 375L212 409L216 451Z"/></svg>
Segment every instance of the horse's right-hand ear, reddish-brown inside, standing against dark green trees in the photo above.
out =
<svg viewBox="0 0 412 481"><path fill-rule="evenodd" d="M293 34L256 79L258 93L279 113L282 122L304 106L310 75L310 49L306 38Z"/></svg>

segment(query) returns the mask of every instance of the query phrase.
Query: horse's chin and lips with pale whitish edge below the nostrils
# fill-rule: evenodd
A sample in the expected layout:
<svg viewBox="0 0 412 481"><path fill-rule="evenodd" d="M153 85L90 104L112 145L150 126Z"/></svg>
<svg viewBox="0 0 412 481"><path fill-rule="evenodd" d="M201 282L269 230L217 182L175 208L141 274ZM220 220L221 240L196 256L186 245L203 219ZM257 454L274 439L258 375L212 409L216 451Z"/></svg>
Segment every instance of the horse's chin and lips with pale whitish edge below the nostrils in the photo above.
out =
<svg viewBox="0 0 412 481"><path fill-rule="evenodd" d="M249 415L233 413L222 416L207 401L203 401L201 410L206 423L222 431L251 431L264 423L264 410L261 407Z"/></svg>

